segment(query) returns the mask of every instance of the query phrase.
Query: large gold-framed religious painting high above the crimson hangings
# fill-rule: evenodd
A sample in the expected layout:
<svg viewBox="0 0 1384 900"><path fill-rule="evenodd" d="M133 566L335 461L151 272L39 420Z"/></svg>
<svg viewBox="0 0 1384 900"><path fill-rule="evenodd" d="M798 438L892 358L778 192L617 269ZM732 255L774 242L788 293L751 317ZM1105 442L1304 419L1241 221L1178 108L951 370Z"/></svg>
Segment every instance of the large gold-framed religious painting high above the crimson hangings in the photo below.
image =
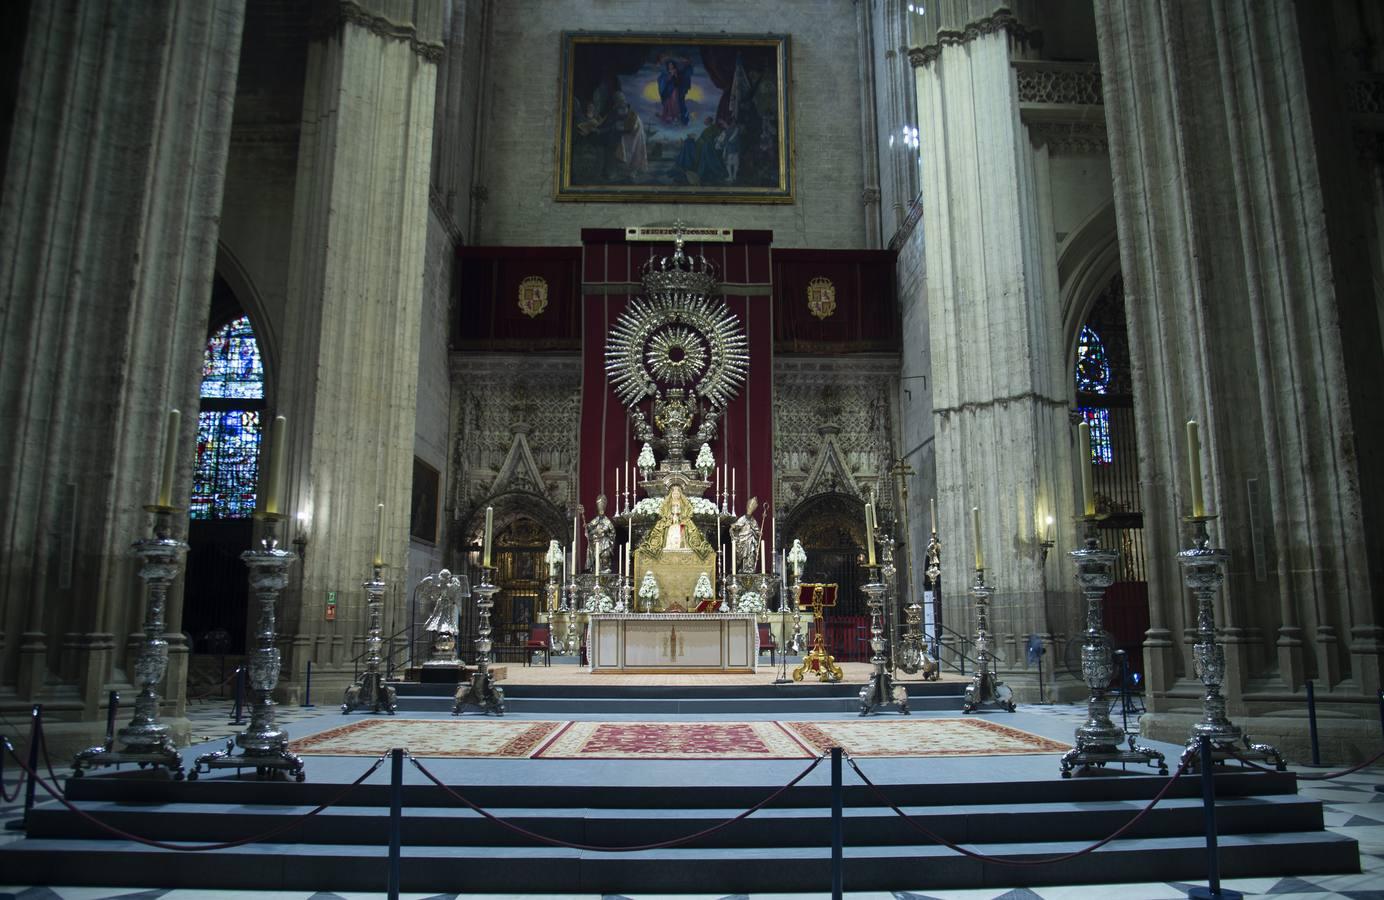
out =
<svg viewBox="0 0 1384 900"><path fill-rule="evenodd" d="M793 202L786 35L562 33L559 201Z"/></svg>

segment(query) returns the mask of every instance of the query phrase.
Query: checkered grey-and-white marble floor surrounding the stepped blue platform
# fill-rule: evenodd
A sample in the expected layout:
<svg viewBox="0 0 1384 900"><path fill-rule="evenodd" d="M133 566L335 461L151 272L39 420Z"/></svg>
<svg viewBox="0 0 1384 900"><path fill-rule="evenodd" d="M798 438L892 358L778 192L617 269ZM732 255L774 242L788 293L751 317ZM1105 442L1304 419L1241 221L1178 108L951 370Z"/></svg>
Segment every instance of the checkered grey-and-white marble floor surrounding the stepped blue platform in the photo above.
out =
<svg viewBox="0 0 1384 900"><path fill-rule="evenodd" d="M1041 713L1071 721L1075 728L1085 719L1085 706L1023 706L1024 712ZM280 721L302 721L313 716L334 713L335 706L310 709L280 708ZM1113 710L1118 712L1118 710ZM190 710L194 735L215 739L238 731L227 726L227 706L206 703ZM1316 770L1297 768L1304 774ZM7 785L10 771L7 770ZM1380 788L1380 789L1376 789ZM1311 878L1241 878L1226 879L1223 889L1237 890L1244 896L1264 896L1275 900L1304 897L1327 900L1345 897L1348 900L1384 900L1384 768L1374 767L1334 781L1301 781L1302 796L1318 799L1323 804L1329 831L1355 838L1360 846L1359 875L1324 875ZM19 807L0 806L0 821L18 818ZM22 832L0 831L0 842L19 839ZM3 874L0 874L3 878ZM895 890L895 892L850 892L850 900L1106 900L1118 896L1120 900L1176 900L1187 896L1197 883L1111 883L1075 885L1048 888L1020 888L1016 890ZM1205 886L1201 882L1200 886ZM7 886L0 882L0 900L383 900L383 893L368 892L260 892L260 890L165 890L140 888L25 888ZM408 900L624 900L621 894L454 894L454 893L404 893ZM632 894L628 900L821 900L822 893L756 893L756 894Z"/></svg>

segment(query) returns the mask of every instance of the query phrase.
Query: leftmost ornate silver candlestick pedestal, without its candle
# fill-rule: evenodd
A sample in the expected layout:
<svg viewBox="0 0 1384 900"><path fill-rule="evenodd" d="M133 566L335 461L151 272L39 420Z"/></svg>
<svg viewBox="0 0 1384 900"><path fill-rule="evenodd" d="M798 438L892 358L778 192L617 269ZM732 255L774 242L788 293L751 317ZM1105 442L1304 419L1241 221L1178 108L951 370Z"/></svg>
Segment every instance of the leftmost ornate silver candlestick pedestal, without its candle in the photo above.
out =
<svg viewBox="0 0 1384 900"><path fill-rule="evenodd" d="M134 716L130 724L120 728L116 737L125 744L116 750L108 737L105 745L82 750L72 760L72 774L80 775L87 768L138 763L166 767L176 781L183 780L183 757L173 749L169 727L159 721L158 685L169 667L169 644L163 640L163 609L167 602L169 584L177 577L187 544L172 536L172 521L177 507L144 507L154 514L154 537L134 541L134 555L144 559L140 577L144 579L148 598L144 605L144 644L134 660L134 677L140 695L134 699Z"/></svg>

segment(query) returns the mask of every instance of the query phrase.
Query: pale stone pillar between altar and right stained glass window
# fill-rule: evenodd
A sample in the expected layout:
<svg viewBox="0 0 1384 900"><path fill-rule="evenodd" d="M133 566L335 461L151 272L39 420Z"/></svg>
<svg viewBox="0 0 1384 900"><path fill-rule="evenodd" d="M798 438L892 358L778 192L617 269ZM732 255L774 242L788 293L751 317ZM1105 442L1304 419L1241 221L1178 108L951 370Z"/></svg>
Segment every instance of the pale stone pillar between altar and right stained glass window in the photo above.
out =
<svg viewBox="0 0 1384 900"><path fill-rule="evenodd" d="M991 631L1020 699L1037 699L1023 649L1077 622L1060 568L1073 546L1077 458L1056 287L1046 150L1019 118L1012 62L1032 43L1008 10L952 4L936 43L909 53L922 140L923 234L936 422L937 518L947 548L944 623L974 631L972 508L980 508ZM1044 561L1046 516L1057 546ZM1067 678L1063 685L1080 691Z"/></svg>

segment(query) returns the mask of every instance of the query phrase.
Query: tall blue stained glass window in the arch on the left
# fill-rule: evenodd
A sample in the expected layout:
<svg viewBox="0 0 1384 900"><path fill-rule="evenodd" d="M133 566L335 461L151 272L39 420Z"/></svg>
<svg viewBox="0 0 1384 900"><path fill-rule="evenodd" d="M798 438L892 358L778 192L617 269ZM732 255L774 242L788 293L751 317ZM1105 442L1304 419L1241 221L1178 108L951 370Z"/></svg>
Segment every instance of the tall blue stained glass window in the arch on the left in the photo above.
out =
<svg viewBox="0 0 1384 900"><path fill-rule="evenodd" d="M249 317L241 316L212 335L202 356L191 518L245 519L253 515L263 397L264 364L259 341Z"/></svg>

